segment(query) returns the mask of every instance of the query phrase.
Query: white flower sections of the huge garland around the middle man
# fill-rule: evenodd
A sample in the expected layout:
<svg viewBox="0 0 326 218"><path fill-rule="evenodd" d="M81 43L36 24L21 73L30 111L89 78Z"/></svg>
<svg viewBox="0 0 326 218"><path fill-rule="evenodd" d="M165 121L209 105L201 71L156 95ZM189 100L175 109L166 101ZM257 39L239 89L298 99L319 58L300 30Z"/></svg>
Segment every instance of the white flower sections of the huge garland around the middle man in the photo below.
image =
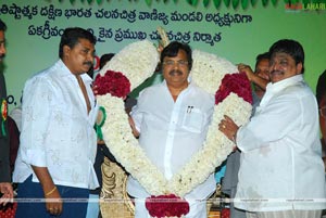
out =
<svg viewBox="0 0 326 218"><path fill-rule="evenodd" d="M235 65L216 55L200 51L193 51L192 55L192 80L209 93L215 94L225 74L237 72ZM104 75L108 69L122 72L131 82L133 89L154 72L158 62L155 47L149 41L139 41L117 53L100 74ZM102 127L106 145L117 162L152 195L174 193L183 197L202 183L234 146L234 143L218 131L218 124L224 114L230 116L238 125L246 124L251 114L251 105L237 94L230 93L222 103L215 105L202 149L178 174L166 180L131 134L123 101L105 94L98 97L98 102L106 111L106 120Z"/></svg>

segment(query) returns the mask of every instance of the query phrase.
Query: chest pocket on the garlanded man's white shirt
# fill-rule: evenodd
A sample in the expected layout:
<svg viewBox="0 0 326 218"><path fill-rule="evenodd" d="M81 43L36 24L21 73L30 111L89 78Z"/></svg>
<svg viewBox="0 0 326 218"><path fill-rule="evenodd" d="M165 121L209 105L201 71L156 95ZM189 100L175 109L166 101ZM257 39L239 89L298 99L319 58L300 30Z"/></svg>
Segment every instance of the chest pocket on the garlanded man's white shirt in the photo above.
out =
<svg viewBox="0 0 326 218"><path fill-rule="evenodd" d="M200 133L203 129L204 113L199 108L188 107L185 112L181 127L190 132Z"/></svg>

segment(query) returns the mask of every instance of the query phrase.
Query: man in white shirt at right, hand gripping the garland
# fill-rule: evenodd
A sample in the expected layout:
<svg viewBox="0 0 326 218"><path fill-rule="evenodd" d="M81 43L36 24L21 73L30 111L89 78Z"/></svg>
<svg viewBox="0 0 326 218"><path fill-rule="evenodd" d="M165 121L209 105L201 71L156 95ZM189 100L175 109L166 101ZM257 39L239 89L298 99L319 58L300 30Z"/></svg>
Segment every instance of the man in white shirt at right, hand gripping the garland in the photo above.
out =
<svg viewBox="0 0 326 218"><path fill-rule="evenodd" d="M303 79L304 51L283 39L269 49L266 92L251 120L218 129L241 151L235 206L249 218L321 218L325 175L316 99Z"/></svg>

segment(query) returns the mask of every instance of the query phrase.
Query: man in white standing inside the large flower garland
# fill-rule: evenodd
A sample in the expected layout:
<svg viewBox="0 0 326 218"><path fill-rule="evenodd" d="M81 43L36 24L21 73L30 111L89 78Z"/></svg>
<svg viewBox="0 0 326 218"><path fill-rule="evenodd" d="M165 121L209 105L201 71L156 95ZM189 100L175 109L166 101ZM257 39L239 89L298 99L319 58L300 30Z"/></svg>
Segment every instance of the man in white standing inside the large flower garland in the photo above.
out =
<svg viewBox="0 0 326 218"><path fill-rule="evenodd" d="M161 63L164 81L139 94L130 124L147 156L168 180L201 149L212 119L214 97L189 79L192 56L188 44L171 42L161 53ZM150 194L131 176L127 190L136 197L135 217L150 217L145 205ZM190 205L186 217L205 218L204 200L214 190L212 174L186 194Z"/></svg>

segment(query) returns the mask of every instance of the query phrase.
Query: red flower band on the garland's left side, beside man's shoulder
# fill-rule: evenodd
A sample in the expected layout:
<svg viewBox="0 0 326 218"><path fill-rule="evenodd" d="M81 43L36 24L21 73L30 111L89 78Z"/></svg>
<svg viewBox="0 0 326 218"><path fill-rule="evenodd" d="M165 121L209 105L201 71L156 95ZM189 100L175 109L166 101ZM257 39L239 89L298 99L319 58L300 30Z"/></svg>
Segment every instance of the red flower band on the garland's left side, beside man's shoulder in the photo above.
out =
<svg viewBox="0 0 326 218"><path fill-rule="evenodd" d="M98 74L93 85L99 95L110 93L124 99L130 92L130 81L121 72L108 70L104 76Z"/></svg>

